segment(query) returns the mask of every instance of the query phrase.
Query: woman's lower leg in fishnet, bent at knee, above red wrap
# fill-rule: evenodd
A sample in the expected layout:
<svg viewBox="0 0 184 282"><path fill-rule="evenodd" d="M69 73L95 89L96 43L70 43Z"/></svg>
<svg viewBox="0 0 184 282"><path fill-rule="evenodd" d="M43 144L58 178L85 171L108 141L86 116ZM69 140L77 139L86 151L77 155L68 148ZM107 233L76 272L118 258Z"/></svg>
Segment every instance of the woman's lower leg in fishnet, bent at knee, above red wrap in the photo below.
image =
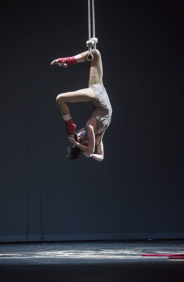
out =
<svg viewBox="0 0 184 282"><path fill-rule="evenodd" d="M68 116L70 117L70 111L66 103L90 102L94 97L94 90L92 88L85 88L78 91L59 94L56 98L56 102L64 120L67 120L66 118L68 118Z"/></svg>

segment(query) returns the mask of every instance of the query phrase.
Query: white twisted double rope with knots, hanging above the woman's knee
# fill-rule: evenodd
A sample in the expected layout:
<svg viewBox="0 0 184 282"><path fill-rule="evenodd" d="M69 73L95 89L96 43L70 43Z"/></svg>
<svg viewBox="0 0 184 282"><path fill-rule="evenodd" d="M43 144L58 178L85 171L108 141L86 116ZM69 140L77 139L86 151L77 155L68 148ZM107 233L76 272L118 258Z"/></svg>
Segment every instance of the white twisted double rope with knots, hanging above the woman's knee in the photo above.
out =
<svg viewBox="0 0 184 282"><path fill-rule="evenodd" d="M95 0L92 0L92 13L93 13L93 37L91 38L91 8L90 8L90 0L88 0L88 31L89 31L89 40L86 41L88 47L88 60L93 60L92 55L92 47L96 49L96 43L98 39L95 37Z"/></svg>

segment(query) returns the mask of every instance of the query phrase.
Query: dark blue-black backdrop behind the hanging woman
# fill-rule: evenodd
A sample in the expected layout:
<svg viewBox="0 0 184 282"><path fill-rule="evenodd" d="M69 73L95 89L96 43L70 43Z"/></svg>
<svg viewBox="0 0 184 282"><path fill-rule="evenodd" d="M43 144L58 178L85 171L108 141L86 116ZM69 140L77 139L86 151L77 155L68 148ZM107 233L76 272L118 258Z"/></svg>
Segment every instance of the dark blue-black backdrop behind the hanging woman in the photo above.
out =
<svg viewBox="0 0 184 282"><path fill-rule="evenodd" d="M1 241L184 237L183 1L96 1L95 24L112 122L103 162L71 162L56 97L90 63L50 63L87 50L87 0L1 4Z"/></svg>

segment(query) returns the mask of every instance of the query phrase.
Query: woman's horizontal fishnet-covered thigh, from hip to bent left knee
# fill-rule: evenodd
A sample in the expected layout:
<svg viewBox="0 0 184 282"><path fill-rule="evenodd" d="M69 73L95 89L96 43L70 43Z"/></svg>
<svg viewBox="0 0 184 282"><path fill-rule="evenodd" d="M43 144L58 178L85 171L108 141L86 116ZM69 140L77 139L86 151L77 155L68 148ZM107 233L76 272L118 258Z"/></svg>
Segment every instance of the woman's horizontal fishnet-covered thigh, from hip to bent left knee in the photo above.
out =
<svg viewBox="0 0 184 282"><path fill-rule="evenodd" d="M90 102L94 97L94 90L92 88L85 88L73 92L59 94L57 96L57 101L63 103Z"/></svg>

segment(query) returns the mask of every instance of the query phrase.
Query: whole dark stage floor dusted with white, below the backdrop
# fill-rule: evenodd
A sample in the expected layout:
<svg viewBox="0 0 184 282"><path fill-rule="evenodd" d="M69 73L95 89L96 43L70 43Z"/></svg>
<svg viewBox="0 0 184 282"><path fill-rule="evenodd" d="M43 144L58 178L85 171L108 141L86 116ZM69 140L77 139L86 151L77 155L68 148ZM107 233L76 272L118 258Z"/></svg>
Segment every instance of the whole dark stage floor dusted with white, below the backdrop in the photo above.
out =
<svg viewBox="0 0 184 282"><path fill-rule="evenodd" d="M142 253L184 253L184 241L1 244L0 281L184 282L184 260Z"/></svg>

